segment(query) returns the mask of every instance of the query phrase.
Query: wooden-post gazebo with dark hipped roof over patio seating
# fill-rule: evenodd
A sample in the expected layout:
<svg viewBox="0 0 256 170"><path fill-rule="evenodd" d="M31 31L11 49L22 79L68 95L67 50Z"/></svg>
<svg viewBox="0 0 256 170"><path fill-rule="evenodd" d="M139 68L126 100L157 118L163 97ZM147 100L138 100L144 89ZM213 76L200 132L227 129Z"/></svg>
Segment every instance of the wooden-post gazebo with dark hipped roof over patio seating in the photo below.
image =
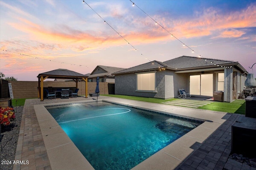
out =
<svg viewBox="0 0 256 170"><path fill-rule="evenodd" d="M87 78L83 74L68 69L56 69L45 73L38 74L38 98L44 101L44 80L45 79L72 79L76 82L76 88L78 88L78 80L85 81L85 97L88 95Z"/></svg>

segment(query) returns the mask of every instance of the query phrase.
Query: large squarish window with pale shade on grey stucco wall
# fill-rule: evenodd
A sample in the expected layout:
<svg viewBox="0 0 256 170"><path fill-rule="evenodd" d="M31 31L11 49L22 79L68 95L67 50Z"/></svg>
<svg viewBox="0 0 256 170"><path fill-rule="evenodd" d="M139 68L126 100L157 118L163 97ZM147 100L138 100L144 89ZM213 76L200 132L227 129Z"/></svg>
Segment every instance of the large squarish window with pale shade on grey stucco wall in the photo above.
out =
<svg viewBox="0 0 256 170"><path fill-rule="evenodd" d="M156 72L154 73L136 73L137 90L155 91L156 90Z"/></svg>

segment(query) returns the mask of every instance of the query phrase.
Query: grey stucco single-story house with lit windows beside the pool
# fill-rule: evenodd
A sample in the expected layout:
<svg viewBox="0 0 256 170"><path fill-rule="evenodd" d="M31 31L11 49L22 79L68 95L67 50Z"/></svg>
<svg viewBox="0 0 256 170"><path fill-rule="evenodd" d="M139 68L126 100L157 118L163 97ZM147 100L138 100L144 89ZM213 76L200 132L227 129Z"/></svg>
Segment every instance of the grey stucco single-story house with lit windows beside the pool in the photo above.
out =
<svg viewBox="0 0 256 170"><path fill-rule="evenodd" d="M117 95L169 99L177 97L179 89L207 97L223 91L226 102L243 90L247 74L237 61L190 56L150 61L113 73Z"/></svg>

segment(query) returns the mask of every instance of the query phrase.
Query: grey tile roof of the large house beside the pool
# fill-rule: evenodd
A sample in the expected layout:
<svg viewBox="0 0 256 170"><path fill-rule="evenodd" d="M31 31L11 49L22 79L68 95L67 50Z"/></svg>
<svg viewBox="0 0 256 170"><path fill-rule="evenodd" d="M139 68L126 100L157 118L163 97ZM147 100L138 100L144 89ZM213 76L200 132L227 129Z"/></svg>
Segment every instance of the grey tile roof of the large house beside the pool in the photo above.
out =
<svg viewBox="0 0 256 170"><path fill-rule="evenodd" d="M154 63L154 64L152 64L152 63ZM178 71L178 70L218 67L217 65L226 65L226 66L227 65L238 65L238 61L229 61L229 60L203 58L203 57L199 58L199 57L181 56L181 57L170 59L170 60L164 61L164 62L160 62L160 61L156 61L156 60L150 61L148 63L144 63L144 64L137 65L134 67L130 67L128 69L117 71L117 72L113 73L113 75L123 74L123 73L131 73L131 72L150 71L150 70L154 70L154 69L161 68L161 67L165 67L166 69ZM243 69L243 67L242 67L242 69Z"/></svg>

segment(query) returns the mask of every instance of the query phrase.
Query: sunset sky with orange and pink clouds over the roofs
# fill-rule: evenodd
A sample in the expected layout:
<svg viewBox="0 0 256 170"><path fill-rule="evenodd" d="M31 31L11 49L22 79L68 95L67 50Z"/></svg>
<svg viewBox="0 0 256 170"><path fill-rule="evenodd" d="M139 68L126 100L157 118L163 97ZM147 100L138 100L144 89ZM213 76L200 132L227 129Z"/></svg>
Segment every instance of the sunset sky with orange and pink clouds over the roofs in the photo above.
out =
<svg viewBox="0 0 256 170"><path fill-rule="evenodd" d="M256 0L85 0L100 16L82 2L0 0L0 72L37 81L59 68L86 74L201 55L256 74Z"/></svg>

